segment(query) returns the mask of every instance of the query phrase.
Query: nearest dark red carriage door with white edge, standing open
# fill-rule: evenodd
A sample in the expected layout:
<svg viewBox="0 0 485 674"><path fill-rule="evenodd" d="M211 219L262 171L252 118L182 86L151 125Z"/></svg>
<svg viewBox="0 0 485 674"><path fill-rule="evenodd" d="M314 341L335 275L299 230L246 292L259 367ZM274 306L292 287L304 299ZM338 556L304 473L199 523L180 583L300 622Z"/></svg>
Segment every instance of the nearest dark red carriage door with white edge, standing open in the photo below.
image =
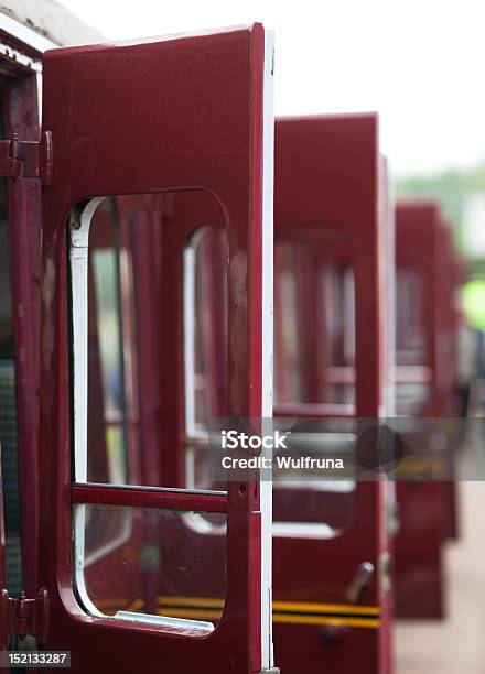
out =
<svg viewBox="0 0 485 674"><path fill-rule="evenodd" d="M103 424L104 414L89 402L88 324L109 305L98 294L94 309L89 279L109 273L112 246L118 267L129 262L122 236L103 243L109 236L98 229L98 254L88 271L89 226L105 227L96 214L107 197L147 193L205 191L218 203L228 240L228 409L231 416L271 415L271 36L259 24L143 44L56 50L44 57L43 126L52 133L53 175L43 191L39 586L50 596L42 645L69 650L74 672L132 673L142 666L227 674L272 666L268 486L251 474L224 491L181 489L163 475L159 487L143 487L121 464L95 483L87 428L95 416ZM127 306L122 296L119 304ZM176 319L163 315L163 307L160 312L166 325ZM106 316L101 324L109 324ZM112 350L126 349L129 338L119 339L123 326L112 325L118 330ZM99 335L101 361L109 363L112 354L103 345ZM116 391L121 370L112 372ZM98 367L98 388L111 385L111 379L103 382ZM170 385L161 380L162 403ZM122 407L114 405L111 412ZM130 433L137 430L136 410L134 404L134 416L125 418ZM122 426L116 414L111 421L115 432L105 439L98 434L108 453ZM160 452L173 453L163 439L162 428ZM139 446L130 459L141 453ZM108 459L96 466L112 465L112 452ZM198 525L219 518L226 526L224 608L215 626L177 618L181 590L171 587L182 570L188 583L182 599L186 604L192 591L195 617L204 583L213 591L219 567L194 544L202 540L194 513ZM138 575L127 573L133 559ZM149 615L140 611L136 595L147 591L141 573L147 565L155 572L150 587L161 594L146 602L152 606ZM108 586L133 600L122 605ZM169 612L164 595L170 591ZM112 608L116 601L123 610ZM153 608L160 601L162 607Z"/></svg>

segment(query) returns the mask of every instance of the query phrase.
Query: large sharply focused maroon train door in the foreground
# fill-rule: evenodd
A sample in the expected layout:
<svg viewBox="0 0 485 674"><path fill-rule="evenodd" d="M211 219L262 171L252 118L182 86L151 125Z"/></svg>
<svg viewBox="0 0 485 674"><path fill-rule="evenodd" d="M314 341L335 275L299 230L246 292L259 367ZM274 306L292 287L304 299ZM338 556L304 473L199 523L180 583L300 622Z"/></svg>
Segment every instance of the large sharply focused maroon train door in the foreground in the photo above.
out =
<svg viewBox="0 0 485 674"><path fill-rule="evenodd" d="M174 231L169 217L174 198L202 198L224 228L228 412L270 416L271 64L258 24L44 57L54 159L43 192L39 584L43 648L71 650L74 671L132 672L141 653L147 671L272 666L270 490L257 471L218 490L177 477L177 452L196 439L174 339L184 339L197 222ZM222 558L204 548L207 522L224 530ZM216 581L215 616L181 618L176 600L196 604Z"/></svg>

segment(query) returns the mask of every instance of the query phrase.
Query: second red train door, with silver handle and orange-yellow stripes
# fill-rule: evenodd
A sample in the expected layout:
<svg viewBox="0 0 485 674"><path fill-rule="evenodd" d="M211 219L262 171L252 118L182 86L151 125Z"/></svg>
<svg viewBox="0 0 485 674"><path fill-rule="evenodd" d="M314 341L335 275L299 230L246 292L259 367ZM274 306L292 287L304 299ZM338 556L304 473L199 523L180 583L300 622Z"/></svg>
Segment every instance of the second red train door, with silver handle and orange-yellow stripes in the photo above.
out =
<svg viewBox="0 0 485 674"><path fill-rule="evenodd" d="M277 120L274 170L274 417L319 418L319 456L345 446L352 455L355 418L392 414L391 224L377 118ZM274 480L282 671L391 671L389 485L352 477Z"/></svg>

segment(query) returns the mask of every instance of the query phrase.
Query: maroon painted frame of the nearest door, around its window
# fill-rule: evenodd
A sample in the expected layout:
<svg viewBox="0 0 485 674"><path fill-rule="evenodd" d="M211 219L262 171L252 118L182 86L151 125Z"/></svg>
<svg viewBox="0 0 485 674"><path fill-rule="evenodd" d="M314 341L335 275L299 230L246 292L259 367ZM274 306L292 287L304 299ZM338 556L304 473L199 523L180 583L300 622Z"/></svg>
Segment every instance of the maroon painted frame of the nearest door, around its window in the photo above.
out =
<svg viewBox="0 0 485 674"><path fill-rule="evenodd" d="M97 195L201 189L219 202L229 246L229 409L261 415L261 129L263 30L255 25L129 46L50 52L43 124L54 173L44 192L42 502L40 584L51 596L47 648L68 648L74 672L258 672L260 656L259 498L231 483L227 512L227 596L205 638L93 619L72 587L71 410L66 216ZM60 91L63 93L60 98ZM171 280L173 276L171 276ZM170 307L164 311L170 312ZM180 423L180 361L162 363L168 433ZM166 415L166 416L165 416ZM162 456L163 486L176 486ZM85 488L89 489L89 488ZM95 489L95 488L93 488ZM96 493L93 491L93 499ZM109 493L114 492L109 490ZM125 492L123 492L125 493ZM126 504L150 503L140 488ZM87 498L87 494L86 494ZM101 496L99 496L101 498ZM184 507L211 510L203 496Z"/></svg>

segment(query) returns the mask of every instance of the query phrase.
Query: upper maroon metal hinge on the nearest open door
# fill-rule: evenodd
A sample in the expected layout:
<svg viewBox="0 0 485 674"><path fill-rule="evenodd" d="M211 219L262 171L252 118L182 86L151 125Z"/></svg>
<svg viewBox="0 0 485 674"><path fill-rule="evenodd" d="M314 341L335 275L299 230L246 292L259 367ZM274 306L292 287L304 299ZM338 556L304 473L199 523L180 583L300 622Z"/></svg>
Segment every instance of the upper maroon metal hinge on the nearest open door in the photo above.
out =
<svg viewBox="0 0 485 674"><path fill-rule="evenodd" d="M0 175L14 180L35 177L48 186L52 177L51 131L43 131L40 141L21 141L17 135L1 140Z"/></svg>

